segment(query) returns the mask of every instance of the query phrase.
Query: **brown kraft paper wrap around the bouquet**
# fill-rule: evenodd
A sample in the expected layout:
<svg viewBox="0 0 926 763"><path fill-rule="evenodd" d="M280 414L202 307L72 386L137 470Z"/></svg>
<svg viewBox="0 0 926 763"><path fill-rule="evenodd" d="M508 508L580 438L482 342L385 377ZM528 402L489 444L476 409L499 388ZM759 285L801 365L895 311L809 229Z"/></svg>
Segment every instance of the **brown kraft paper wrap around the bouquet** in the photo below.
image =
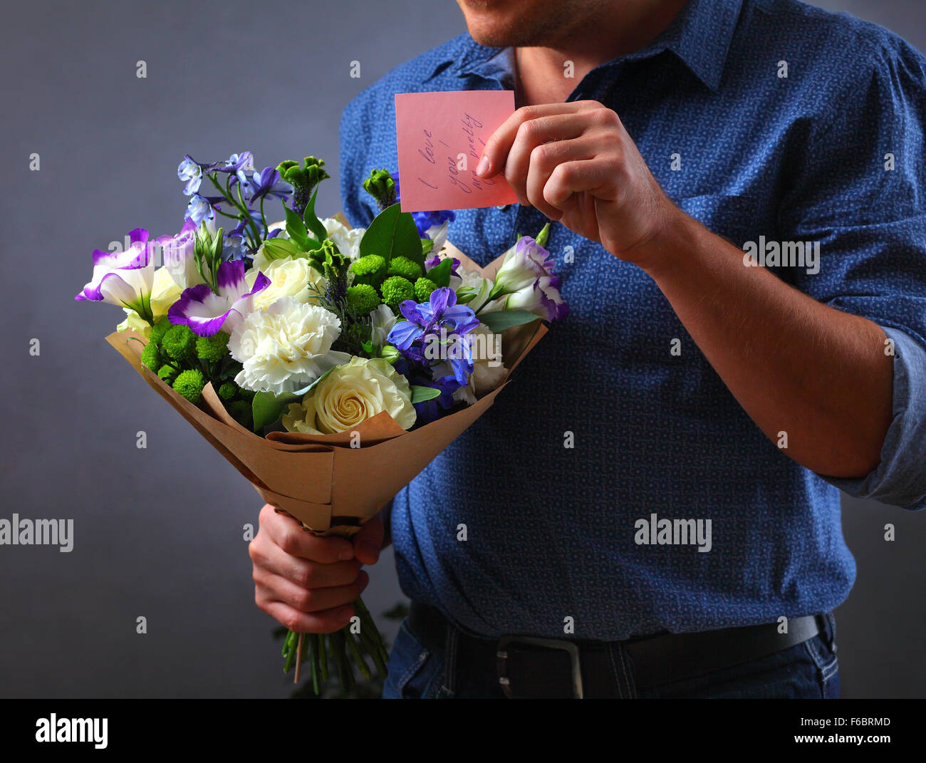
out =
<svg viewBox="0 0 926 763"><path fill-rule="evenodd" d="M463 269L480 271L485 278L494 276L504 256L480 268L453 244L445 245L444 255L457 257ZM202 399L194 405L158 379L142 364L144 338L135 331L116 331L106 342L254 485L266 503L291 514L312 532L349 536L492 406L511 371L544 333L540 319L505 331L506 381L474 405L412 432L383 412L351 432L270 432L266 438L232 419L211 384L206 384ZM352 432L357 432L360 447L350 446ZM357 435L354 439L357 442Z"/></svg>

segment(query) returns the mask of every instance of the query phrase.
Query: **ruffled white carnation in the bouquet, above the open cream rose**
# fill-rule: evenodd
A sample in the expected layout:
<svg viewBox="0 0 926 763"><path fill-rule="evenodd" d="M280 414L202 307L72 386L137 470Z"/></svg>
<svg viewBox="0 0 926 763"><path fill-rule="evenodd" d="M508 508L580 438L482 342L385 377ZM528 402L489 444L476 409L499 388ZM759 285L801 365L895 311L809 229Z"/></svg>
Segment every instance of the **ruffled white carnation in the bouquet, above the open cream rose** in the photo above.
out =
<svg viewBox="0 0 926 763"><path fill-rule="evenodd" d="M318 305L284 296L232 330L229 352L243 364L235 382L246 390L295 392L350 356L332 352L341 320Z"/></svg>

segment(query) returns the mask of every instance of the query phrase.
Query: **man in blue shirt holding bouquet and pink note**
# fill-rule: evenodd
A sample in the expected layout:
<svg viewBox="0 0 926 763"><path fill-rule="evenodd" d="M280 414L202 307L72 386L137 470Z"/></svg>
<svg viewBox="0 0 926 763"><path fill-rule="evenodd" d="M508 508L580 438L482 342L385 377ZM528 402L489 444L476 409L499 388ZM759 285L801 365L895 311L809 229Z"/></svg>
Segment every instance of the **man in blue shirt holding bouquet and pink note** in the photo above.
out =
<svg viewBox="0 0 926 763"><path fill-rule="evenodd" d="M558 220L571 312L394 499L384 694L838 695L836 487L926 507L926 61L795 0L458 2L345 110L346 213L395 93L514 89L477 171L520 203L449 237L484 264ZM381 543L265 507L257 604L340 628Z"/></svg>

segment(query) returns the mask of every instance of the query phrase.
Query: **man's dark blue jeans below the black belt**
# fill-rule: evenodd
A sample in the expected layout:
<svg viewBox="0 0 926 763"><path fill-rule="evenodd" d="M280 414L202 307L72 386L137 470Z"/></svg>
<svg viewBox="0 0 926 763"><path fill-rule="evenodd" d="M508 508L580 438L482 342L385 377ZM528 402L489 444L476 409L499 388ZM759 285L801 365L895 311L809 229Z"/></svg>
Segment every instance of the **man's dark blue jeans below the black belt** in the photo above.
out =
<svg viewBox="0 0 926 763"><path fill-rule="evenodd" d="M639 692L632 676L624 685L629 683L631 696L640 699L836 699L836 627L832 615L826 619L825 632L768 657ZM428 648L405 620L389 657L383 699L503 699L505 694L484 666L471 669L457 660L456 644L451 631L442 648Z"/></svg>

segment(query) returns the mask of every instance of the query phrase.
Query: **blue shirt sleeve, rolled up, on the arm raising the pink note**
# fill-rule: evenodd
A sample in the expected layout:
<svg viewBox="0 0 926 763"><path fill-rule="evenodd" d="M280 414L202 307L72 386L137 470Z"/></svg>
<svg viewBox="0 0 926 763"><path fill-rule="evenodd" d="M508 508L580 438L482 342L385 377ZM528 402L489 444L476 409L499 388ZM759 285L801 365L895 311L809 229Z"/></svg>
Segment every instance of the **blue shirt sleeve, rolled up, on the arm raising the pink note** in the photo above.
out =
<svg viewBox="0 0 926 763"><path fill-rule="evenodd" d="M846 493L926 508L926 67L898 41L859 58L833 117L809 136L780 212L782 235L820 244L789 280L893 340L894 418L881 463Z"/></svg>

